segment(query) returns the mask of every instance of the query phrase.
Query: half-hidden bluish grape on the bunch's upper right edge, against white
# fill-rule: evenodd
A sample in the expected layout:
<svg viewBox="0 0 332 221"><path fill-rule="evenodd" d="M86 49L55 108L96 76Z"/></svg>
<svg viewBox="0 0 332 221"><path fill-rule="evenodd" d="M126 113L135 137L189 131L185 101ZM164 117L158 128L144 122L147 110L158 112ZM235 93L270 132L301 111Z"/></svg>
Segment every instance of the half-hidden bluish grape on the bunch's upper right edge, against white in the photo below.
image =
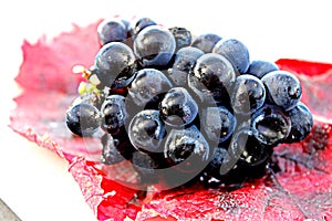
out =
<svg viewBox="0 0 332 221"><path fill-rule="evenodd" d="M253 76L257 76L258 78L261 78L267 73L278 71L278 70L279 67L277 66L276 63L262 61L262 60L256 60L250 63L247 74L251 74Z"/></svg>

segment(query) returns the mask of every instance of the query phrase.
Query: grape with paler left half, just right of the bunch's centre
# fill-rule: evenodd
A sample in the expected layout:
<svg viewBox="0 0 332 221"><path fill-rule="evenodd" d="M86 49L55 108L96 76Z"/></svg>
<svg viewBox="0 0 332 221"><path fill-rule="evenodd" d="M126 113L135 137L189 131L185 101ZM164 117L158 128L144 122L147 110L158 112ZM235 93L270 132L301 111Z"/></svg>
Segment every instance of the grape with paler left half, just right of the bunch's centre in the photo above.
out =
<svg viewBox="0 0 332 221"><path fill-rule="evenodd" d="M203 131L216 145L227 140L232 135L236 125L237 118L224 106L203 109Z"/></svg>

